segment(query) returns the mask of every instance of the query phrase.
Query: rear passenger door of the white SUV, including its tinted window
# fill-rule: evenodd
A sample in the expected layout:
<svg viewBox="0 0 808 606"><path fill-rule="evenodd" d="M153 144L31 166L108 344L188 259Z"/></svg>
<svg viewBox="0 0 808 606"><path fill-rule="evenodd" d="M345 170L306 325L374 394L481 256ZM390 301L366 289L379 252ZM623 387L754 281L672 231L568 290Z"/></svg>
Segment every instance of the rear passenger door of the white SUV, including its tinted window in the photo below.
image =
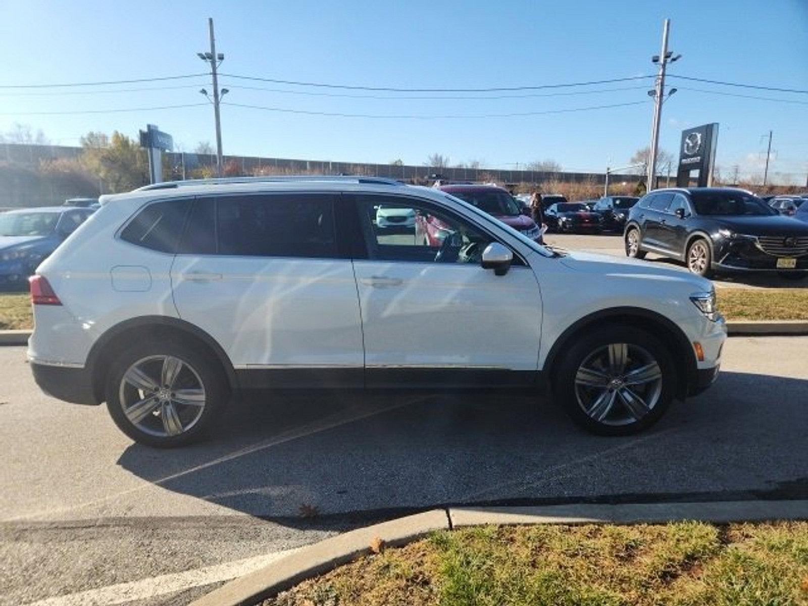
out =
<svg viewBox="0 0 808 606"><path fill-rule="evenodd" d="M334 204L299 193L196 200L171 271L175 303L242 384L362 384L356 281Z"/></svg>

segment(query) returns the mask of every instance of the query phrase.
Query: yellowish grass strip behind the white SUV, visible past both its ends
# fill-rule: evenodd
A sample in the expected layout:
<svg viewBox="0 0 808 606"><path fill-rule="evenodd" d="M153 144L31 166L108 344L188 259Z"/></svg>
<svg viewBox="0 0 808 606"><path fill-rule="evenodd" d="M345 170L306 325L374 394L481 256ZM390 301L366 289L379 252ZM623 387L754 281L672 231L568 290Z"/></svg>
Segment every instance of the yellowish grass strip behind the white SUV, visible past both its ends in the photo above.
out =
<svg viewBox="0 0 808 606"><path fill-rule="evenodd" d="M730 320L808 320L808 288L720 288L718 309ZM0 293L0 330L32 327L28 295Z"/></svg>

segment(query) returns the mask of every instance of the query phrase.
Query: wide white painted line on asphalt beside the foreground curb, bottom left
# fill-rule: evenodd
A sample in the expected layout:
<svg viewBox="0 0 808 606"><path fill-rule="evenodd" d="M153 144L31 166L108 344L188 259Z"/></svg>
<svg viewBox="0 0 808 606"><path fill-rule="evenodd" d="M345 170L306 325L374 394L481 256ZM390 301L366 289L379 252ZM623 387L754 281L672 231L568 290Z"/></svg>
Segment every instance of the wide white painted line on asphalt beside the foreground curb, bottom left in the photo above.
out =
<svg viewBox="0 0 808 606"><path fill-rule="evenodd" d="M160 595L187 591L193 587L222 583L235 579L254 570L259 570L271 562L284 558L297 549L287 549L276 553L265 553L254 558L244 558L234 562L225 562L214 566L204 566L194 570L185 570L171 574L161 574L148 579L116 583L106 587L78 591L66 595L57 595L28 606L96 606L100 604L126 604L134 600L149 600Z"/></svg>

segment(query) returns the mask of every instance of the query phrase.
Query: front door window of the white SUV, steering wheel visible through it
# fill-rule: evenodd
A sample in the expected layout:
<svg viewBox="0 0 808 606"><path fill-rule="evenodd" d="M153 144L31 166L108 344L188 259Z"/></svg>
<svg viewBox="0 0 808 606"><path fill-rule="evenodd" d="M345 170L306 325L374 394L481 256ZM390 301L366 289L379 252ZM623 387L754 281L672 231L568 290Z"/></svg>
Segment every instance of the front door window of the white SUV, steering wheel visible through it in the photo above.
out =
<svg viewBox="0 0 808 606"><path fill-rule="evenodd" d="M494 238L462 217L421 200L356 196L371 259L421 263L480 263ZM385 208L412 217L411 227L390 229Z"/></svg>

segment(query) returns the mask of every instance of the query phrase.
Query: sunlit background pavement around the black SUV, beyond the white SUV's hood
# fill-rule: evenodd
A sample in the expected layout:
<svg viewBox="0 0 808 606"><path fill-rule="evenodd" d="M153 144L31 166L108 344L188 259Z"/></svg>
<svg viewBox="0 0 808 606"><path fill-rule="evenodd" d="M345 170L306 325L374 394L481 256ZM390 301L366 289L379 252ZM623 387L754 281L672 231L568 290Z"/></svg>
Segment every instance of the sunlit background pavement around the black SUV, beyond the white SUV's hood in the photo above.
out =
<svg viewBox="0 0 808 606"><path fill-rule="evenodd" d="M579 235L579 234L545 234L545 242L550 246L566 250L584 250L612 255L625 259L625 248L621 234ZM666 267L675 267L687 271L683 263L673 259L665 259L659 255L649 253L646 256L649 263L663 263ZM716 288L808 288L806 280L783 280L776 273L734 276L716 276L713 279Z"/></svg>

